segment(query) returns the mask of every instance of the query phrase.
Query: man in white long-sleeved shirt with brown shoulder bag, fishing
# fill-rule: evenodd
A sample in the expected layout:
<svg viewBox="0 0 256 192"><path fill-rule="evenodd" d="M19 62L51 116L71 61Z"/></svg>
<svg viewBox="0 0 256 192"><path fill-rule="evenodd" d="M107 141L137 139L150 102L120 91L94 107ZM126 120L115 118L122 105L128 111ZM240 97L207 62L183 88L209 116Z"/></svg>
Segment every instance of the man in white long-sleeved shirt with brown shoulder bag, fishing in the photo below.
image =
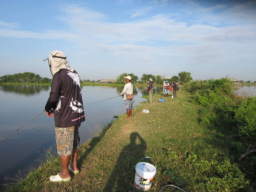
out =
<svg viewBox="0 0 256 192"><path fill-rule="evenodd" d="M125 86L120 95L124 96L124 107L126 109L127 117L124 119L131 119L132 117L132 99L127 100L127 94L133 94L133 86L131 83L131 76L124 77L125 78Z"/></svg>

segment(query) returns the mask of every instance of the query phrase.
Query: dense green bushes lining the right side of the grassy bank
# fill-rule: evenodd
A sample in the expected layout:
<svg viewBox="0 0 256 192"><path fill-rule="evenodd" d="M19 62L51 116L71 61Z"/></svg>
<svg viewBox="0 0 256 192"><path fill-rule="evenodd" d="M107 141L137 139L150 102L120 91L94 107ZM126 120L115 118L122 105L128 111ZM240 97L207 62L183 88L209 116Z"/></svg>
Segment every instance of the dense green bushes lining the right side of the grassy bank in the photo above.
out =
<svg viewBox="0 0 256 192"><path fill-rule="evenodd" d="M239 167L235 162L238 162L238 158L248 150L249 144L255 148L256 98L235 96L232 82L224 78L191 82L190 91L197 93L195 101L204 106L200 112L201 123L221 132L221 141L230 142L226 154L230 159L206 162L191 155L185 160L191 167L206 174L204 179L201 179L201 190L253 191L253 187L255 191L255 154L250 154L239 161ZM215 175L207 174L209 167L216 172ZM247 185L249 180L244 176L251 180L250 187Z"/></svg>

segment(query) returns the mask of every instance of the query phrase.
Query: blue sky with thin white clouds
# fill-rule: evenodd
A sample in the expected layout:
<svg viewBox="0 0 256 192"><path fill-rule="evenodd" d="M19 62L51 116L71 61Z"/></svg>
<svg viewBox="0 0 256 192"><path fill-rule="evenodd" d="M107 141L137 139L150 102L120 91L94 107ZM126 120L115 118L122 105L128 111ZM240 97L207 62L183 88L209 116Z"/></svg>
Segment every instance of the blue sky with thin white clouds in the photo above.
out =
<svg viewBox="0 0 256 192"><path fill-rule="evenodd" d="M256 1L1 1L0 76L51 78L61 50L80 78L121 73L256 80Z"/></svg>

